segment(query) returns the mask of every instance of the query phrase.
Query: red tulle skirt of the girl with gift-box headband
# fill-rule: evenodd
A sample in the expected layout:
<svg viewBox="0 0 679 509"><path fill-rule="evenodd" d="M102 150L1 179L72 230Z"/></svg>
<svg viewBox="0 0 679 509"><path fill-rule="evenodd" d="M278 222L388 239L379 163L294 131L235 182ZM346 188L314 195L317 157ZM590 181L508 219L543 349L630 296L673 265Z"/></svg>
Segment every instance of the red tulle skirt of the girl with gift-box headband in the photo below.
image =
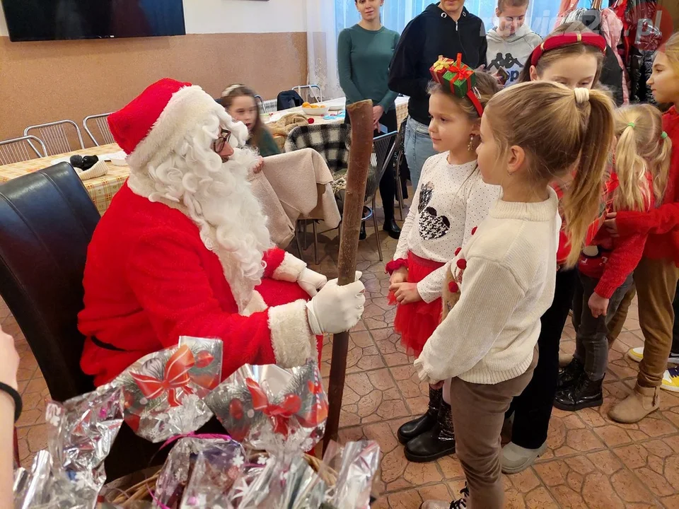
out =
<svg viewBox="0 0 679 509"><path fill-rule="evenodd" d="M408 283L419 283L443 265L442 262L420 258L408 252ZM393 292L389 292L389 302L397 304ZM440 298L431 303L420 300L417 303L397 304L394 330L401 334L401 344L408 355L419 357L422 353L426 340L441 322L441 310Z"/></svg>

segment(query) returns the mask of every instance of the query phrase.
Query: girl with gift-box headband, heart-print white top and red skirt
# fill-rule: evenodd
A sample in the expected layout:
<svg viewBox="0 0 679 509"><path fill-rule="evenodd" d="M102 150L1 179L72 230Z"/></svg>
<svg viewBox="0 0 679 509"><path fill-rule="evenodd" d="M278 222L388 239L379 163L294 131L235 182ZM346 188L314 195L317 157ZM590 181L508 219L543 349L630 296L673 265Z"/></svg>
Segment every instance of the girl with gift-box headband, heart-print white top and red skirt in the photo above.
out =
<svg viewBox="0 0 679 509"><path fill-rule="evenodd" d="M415 356L441 321L444 264L470 238L500 192L484 184L476 163L483 105L499 87L489 74L468 73L474 76L478 108L468 95L451 92L450 85L431 84L429 134L441 153L424 163L394 259L387 264L390 299L397 303L394 329ZM410 461L429 462L455 452L450 405L441 401L442 392L430 389L426 414L398 430Z"/></svg>

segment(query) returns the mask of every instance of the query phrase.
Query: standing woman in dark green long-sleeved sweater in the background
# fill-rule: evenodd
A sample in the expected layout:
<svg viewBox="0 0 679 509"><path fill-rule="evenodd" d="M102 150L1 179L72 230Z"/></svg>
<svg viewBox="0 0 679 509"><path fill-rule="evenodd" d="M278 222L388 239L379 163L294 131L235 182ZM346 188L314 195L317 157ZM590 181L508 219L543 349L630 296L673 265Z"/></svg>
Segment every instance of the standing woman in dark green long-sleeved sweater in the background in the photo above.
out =
<svg viewBox="0 0 679 509"><path fill-rule="evenodd" d="M397 130L394 101L397 93L389 90L389 64L398 43L399 35L383 27L380 8L384 0L355 0L361 13L361 21L345 28L337 41L337 65L340 85L347 97L347 104L360 100L373 101L373 122L376 134L382 124L389 132ZM347 120L349 116L347 115ZM395 197L394 172L391 165L380 181L380 196L384 209L385 232L398 238L401 229L394 218Z"/></svg>

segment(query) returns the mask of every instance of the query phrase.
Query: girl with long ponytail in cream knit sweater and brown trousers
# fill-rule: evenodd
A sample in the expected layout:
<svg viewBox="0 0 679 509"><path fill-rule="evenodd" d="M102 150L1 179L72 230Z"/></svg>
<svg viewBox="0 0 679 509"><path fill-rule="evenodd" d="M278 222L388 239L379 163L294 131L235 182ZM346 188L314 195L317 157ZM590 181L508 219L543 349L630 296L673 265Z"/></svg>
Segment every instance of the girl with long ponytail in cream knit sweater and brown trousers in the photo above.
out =
<svg viewBox="0 0 679 509"><path fill-rule="evenodd" d="M451 380L458 458L468 488L445 507L500 509L500 431L538 361L540 316L552 304L561 219L549 186L575 170L563 199L575 264L598 214L613 141L605 93L557 83L516 85L487 105L477 149L501 199L449 267L459 300L415 361L421 380ZM576 166L577 165L577 166ZM444 507L426 503L425 508Z"/></svg>

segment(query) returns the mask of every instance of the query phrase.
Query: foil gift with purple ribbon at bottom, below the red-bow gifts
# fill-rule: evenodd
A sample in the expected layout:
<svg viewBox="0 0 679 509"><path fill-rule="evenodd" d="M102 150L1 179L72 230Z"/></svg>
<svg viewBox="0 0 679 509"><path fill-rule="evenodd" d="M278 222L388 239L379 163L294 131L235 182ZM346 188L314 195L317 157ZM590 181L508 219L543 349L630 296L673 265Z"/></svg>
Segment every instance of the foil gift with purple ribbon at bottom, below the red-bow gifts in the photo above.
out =
<svg viewBox="0 0 679 509"><path fill-rule="evenodd" d="M158 475L154 500L170 509L214 507L209 499L231 488L244 458L243 447L228 437L180 438Z"/></svg>

